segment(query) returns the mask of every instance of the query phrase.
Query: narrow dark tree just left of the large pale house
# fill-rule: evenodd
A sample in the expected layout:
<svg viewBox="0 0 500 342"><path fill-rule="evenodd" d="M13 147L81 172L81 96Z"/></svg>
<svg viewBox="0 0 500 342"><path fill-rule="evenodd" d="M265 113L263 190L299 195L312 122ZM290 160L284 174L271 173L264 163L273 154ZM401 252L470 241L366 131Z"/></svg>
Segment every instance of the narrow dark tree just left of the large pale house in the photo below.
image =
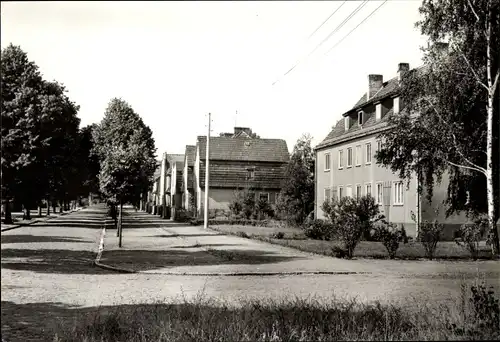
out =
<svg viewBox="0 0 500 342"><path fill-rule="evenodd" d="M294 146L285 169L285 182L278 196L277 210L295 225L302 225L314 210L314 153L312 137L302 135Z"/></svg>

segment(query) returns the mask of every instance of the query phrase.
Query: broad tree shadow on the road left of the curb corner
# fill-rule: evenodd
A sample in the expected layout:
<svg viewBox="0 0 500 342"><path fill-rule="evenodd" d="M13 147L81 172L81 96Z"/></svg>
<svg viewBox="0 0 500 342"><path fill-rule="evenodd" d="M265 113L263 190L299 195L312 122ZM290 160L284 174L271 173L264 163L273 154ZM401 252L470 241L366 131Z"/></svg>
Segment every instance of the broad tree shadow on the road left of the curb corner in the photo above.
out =
<svg viewBox="0 0 500 342"><path fill-rule="evenodd" d="M55 274L116 274L95 266L95 256L95 252L82 250L5 248L2 268Z"/></svg>

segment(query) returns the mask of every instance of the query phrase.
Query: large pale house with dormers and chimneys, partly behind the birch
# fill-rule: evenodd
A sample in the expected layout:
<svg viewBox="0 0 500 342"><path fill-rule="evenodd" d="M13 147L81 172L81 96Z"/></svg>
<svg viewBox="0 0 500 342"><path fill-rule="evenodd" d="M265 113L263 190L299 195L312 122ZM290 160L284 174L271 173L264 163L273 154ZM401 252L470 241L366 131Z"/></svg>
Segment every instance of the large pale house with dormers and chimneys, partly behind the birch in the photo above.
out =
<svg viewBox="0 0 500 342"><path fill-rule="evenodd" d="M315 211L323 218L321 205L326 199L370 194L386 218L404 224L410 236L418 234L419 222L437 219L445 224L445 238L449 239L465 217L445 217L442 202L447 196L447 174L436 185L430 204L416 191L417 177L412 177L407 188L406 181L374 158L383 144L377 137L389 128L387 118L405 110L399 84L409 69L409 64L400 63L397 76L388 81L382 75L368 75L367 92L315 147Z"/></svg>

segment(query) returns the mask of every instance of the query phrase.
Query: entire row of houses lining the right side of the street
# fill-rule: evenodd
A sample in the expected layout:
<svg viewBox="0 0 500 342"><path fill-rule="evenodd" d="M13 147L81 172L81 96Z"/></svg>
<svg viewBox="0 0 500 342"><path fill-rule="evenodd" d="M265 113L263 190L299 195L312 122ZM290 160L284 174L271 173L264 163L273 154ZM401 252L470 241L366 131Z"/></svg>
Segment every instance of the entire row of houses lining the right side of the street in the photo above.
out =
<svg viewBox="0 0 500 342"><path fill-rule="evenodd" d="M377 136L388 128L387 118L405 110L399 85L408 71L409 64L400 63L397 76L388 81L382 75L368 75L366 93L315 147L315 216L324 218L321 204L327 199L370 194L382 213L391 222L404 224L410 236L416 235L419 222L437 219L445 224L445 238L450 239L466 218L445 216L447 175L428 202L417 193L416 177L407 188L406 182L377 165L374 158L382 146ZM198 136L196 145L186 146L184 155L163 154L147 198L150 211L165 218L179 208L203 215L205 151L206 136ZM234 133L210 137L209 208L227 210L234 192L247 186L274 204L288 161L284 140L258 138L250 128L235 127ZM171 209L161 212L160 208Z"/></svg>

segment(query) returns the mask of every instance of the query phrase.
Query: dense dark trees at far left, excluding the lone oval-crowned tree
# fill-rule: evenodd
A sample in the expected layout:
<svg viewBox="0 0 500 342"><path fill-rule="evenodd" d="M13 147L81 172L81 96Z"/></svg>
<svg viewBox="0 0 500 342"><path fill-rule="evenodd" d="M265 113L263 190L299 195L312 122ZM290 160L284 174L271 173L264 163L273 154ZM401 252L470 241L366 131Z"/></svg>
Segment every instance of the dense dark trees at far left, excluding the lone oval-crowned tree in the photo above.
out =
<svg viewBox="0 0 500 342"><path fill-rule="evenodd" d="M79 129L79 107L65 87L44 80L38 66L12 44L2 49L1 87L4 222L12 222L12 200L30 219L30 209L42 200L50 214L50 204L63 210L70 200L95 191L91 128Z"/></svg>

